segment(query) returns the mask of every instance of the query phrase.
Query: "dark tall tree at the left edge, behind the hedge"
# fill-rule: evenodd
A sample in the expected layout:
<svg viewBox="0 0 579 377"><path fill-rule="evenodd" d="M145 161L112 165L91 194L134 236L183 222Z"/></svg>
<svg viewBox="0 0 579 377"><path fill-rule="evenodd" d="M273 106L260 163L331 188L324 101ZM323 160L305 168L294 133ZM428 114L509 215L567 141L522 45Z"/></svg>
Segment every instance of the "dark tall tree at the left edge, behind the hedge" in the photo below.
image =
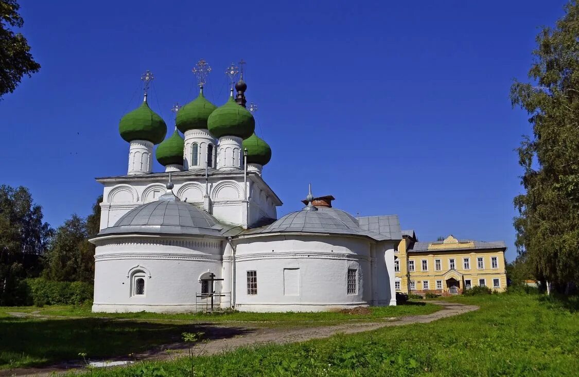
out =
<svg viewBox="0 0 579 377"><path fill-rule="evenodd" d="M28 189L0 186L0 305L11 305L20 281L38 275L52 232Z"/></svg>

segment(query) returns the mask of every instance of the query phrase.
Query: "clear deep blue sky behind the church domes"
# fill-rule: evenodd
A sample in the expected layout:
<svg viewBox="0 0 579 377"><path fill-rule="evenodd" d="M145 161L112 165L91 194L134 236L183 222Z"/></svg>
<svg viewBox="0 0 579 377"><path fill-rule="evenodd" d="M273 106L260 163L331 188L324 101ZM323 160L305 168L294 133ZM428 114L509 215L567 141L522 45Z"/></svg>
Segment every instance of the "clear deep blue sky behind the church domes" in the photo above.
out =
<svg viewBox="0 0 579 377"><path fill-rule="evenodd" d="M20 3L42 69L0 102L0 183L29 187L52 226L90 212L94 177L126 173L118 121L141 101L142 72L171 127L199 58L217 105L243 58L280 216L312 182L354 216L400 215L421 241L503 239L516 256L513 149L530 128L509 88L564 1Z"/></svg>

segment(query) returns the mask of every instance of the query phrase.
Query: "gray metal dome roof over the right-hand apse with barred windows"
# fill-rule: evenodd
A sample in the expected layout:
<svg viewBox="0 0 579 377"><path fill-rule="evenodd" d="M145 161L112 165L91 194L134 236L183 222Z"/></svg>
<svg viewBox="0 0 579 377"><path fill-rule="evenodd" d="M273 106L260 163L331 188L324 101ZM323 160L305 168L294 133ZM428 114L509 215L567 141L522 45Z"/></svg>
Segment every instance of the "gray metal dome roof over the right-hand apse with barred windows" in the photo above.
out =
<svg viewBox="0 0 579 377"><path fill-rule="evenodd" d="M360 228L356 217L331 207L318 207L317 210L300 210L288 213L269 226L244 232L244 234L261 234L276 232L310 232L349 234L368 236L376 241L390 239L373 231Z"/></svg>

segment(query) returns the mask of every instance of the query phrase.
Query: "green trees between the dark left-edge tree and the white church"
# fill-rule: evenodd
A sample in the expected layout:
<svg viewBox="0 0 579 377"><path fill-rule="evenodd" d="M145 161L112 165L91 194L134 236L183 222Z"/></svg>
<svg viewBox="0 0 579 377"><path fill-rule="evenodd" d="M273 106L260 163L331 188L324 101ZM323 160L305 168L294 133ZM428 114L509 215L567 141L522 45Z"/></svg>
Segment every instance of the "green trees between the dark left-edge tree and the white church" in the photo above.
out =
<svg viewBox="0 0 579 377"><path fill-rule="evenodd" d="M94 249L88 238L98 234L100 228L100 202L97 198L93 212L82 219L77 215L58 227L46 255L43 276L50 280L67 282L93 282Z"/></svg>

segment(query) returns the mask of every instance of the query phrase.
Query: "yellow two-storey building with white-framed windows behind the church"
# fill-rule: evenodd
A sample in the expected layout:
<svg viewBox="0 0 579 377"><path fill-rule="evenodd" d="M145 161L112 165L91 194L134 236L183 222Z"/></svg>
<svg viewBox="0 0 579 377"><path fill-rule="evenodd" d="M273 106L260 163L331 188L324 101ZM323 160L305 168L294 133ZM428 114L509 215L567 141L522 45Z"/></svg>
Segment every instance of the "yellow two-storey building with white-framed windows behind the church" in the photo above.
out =
<svg viewBox="0 0 579 377"><path fill-rule="evenodd" d="M419 242L414 231L402 231L394 253L395 289L404 293L461 293L465 288L507 288L503 241L459 240Z"/></svg>

